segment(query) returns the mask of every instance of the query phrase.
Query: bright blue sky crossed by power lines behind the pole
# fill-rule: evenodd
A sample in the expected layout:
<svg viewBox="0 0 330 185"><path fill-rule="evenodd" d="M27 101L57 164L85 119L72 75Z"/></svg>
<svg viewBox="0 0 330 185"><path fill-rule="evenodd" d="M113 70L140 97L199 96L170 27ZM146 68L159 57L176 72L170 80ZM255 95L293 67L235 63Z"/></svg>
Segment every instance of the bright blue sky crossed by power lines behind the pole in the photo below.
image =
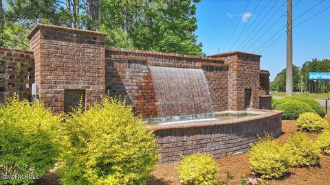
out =
<svg viewBox="0 0 330 185"><path fill-rule="evenodd" d="M330 7L329 0L320 3L321 1L322 0L293 1L293 5L297 3L293 8L293 19L296 18L293 25L295 26ZM220 53L222 51L245 51L261 54L261 69L270 71L270 79L272 81L276 74L284 69L286 65L287 40L286 34L283 34L286 31L286 0L261 0L259 5L258 3L258 0L250 1L245 12L243 12L245 6L248 4L248 0L202 0L197 4L196 16L198 18L198 29L196 34L198 36L198 41L203 43L203 52L206 53L206 55L217 53L218 49ZM317 5L318 3L320 4ZM258 5L257 8L256 5ZM273 5L274 8L270 10ZM314 7L314 5L317 6L309 10ZM269 10L270 12L267 14ZM278 10L278 12L276 12L276 10ZM309 12L304 14L307 10L309 10ZM267 14L267 16L265 16L265 14ZM273 14L274 16L272 16ZM285 15L281 16L283 14ZM303 16L300 16L301 14L303 14ZM263 18L264 16L265 18ZM263 21L261 22L262 19ZM237 25L237 23L239 24ZM236 31L233 32L236 25ZM271 27L271 25L273 26ZM245 29L243 29L244 27ZM282 27L285 28L281 30ZM269 30L267 31L267 29ZM252 32L253 30L254 32ZM259 30L260 32L257 32ZM278 32L279 30L281 31ZM276 32L278 32L278 34L276 34ZM239 38L240 34L241 38ZM263 36L261 36L262 34ZM276 34L276 36L274 36L274 34ZM278 38L281 34L283 34L283 36ZM231 35L232 38L227 47L225 47ZM274 38L263 45L272 36L274 36ZM272 43L276 38L278 38L278 40L267 47L267 45ZM250 42L248 42L249 40ZM261 45L263 45L263 47L261 47ZM256 50L259 47L261 48ZM263 50L265 47L267 48ZM294 64L296 66L301 66L305 61L309 61L312 58L330 58L330 8L293 29Z"/></svg>

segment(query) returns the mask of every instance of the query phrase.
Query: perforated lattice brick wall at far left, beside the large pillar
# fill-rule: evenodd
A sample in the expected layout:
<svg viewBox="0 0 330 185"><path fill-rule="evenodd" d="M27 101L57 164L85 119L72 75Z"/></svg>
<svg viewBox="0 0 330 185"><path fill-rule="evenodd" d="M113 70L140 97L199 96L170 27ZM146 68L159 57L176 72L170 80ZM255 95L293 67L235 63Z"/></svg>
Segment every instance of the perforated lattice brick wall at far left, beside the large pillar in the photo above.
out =
<svg viewBox="0 0 330 185"><path fill-rule="evenodd" d="M31 101L33 83L33 52L0 47L0 103L12 93Z"/></svg>

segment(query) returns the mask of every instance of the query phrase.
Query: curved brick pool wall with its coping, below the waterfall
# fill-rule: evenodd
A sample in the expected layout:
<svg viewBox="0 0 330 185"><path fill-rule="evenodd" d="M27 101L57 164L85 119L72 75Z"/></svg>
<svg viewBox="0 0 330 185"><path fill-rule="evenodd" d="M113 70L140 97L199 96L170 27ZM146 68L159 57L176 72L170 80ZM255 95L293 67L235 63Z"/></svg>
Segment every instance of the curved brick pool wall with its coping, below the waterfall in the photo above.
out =
<svg viewBox="0 0 330 185"><path fill-rule="evenodd" d="M228 121L150 126L158 137L160 162L177 162L180 155L212 153L215 158L249 151L250 143L265 132L275 138L282 134L282 112Z"/></svg>

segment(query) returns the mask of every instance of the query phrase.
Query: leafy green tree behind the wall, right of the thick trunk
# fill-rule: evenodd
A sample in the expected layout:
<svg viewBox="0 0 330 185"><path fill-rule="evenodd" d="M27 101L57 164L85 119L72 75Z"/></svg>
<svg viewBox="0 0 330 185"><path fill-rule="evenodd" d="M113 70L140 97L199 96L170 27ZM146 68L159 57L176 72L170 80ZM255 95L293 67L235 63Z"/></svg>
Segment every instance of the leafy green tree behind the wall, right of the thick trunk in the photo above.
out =
<svg viewBox="0 0 330 185"><path fill-rule="evenodd" d="M108 32L126 33L122 40L131 40L137 49L201 55L201 43L194 34L198 2L101 0L100 23Z"/></svg>

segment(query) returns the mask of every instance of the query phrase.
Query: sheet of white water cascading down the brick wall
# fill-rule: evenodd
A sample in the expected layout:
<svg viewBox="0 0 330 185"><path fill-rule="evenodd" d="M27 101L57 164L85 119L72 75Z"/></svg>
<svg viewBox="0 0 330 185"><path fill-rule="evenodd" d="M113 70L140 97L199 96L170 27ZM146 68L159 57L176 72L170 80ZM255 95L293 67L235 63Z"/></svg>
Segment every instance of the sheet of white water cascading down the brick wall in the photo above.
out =
<svg viewBox="0 0 330 185"><path fill-rule="evenodd" d="M149 66L161 117L212 112L206 77L201 69Z"/></svg>

